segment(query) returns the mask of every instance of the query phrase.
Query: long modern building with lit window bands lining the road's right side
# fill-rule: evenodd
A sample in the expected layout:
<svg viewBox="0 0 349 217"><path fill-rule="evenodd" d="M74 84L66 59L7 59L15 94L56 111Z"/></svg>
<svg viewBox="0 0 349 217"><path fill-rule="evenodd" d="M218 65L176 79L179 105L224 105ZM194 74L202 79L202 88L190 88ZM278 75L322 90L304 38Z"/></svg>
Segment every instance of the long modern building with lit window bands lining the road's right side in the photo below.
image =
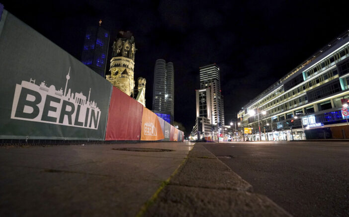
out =
<svg viewBox="0 0 349 217"><path fill-rule="evenodd" d="M240 125L251 132L245 140L349 138L348 116L342 113L343 99L349 98L348 35L330 42L240 110Z"/></svg>

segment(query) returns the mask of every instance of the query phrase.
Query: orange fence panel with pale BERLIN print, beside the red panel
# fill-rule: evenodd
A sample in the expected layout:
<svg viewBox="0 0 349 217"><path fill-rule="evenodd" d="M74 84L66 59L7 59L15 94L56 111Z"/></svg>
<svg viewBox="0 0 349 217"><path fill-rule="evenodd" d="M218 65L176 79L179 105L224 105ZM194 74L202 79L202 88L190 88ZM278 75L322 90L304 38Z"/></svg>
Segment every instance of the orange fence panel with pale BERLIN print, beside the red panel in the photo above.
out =
<svg viewBox="0 0 349 217"><path fill-rule="evenodd" d="M142 114L141 140L156 141L162 139L164 139L164 134L158 116L144 107Z"/></svg>

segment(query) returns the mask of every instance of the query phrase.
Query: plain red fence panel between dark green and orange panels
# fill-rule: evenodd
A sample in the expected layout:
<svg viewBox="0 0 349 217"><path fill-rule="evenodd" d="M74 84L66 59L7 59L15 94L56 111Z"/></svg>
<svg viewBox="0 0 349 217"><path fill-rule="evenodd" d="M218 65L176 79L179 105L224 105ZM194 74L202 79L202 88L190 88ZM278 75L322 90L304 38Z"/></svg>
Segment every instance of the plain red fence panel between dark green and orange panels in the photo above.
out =
<svg viewBox="0 0 349 217"><path fill-rule="evenodd" d="M105 140L139 140L143 105L113 86Z"/></svg>

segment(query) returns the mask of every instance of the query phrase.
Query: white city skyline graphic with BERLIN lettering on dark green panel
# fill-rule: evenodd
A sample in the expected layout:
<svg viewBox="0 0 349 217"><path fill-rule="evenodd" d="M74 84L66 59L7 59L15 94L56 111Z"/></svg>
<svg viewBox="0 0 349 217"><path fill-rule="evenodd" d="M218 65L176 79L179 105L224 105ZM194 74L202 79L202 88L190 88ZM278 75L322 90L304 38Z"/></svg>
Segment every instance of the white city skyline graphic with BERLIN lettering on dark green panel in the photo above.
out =
<svg viewBox="0 0 349 217"><path fill-rule="evenodd" d="M22 80L21 84L16 84L11 119L96 130L101 112L97 107L97 103L90 100L91 88L89 88L88 97L82 91L73 92L68 87L70 70L71 68L69 68L66 75L64 91L62 87L59 90L56 89L53 84L47 86L45 81L38 85L35 83L36 80L32 78L29 81ZM23 90L25 93L22 93ZM40 102L38 102L38 98L40 98L38 94L41 96ZM19 102L20 99L21 102ZM34 102L37 102L37 104L33 105ZM21 106L18 108L18 103L24 103L25 105L23 108ZM38 112L35 109L38 109ZM29 117L32 114L35 117Z"/></svg>

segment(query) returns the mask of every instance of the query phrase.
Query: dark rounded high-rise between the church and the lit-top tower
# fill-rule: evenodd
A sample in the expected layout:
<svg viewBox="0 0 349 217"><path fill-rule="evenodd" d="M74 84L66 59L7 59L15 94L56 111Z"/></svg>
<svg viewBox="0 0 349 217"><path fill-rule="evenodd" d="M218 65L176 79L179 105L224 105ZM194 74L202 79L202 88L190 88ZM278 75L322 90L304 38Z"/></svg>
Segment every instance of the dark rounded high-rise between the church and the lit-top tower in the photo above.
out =
<svg viewBox="0 0 349 217"><path fill-rule="evenodd" d="M169 123L174 119L174 64L157 60L154 67L153 111Z"/></svg>

